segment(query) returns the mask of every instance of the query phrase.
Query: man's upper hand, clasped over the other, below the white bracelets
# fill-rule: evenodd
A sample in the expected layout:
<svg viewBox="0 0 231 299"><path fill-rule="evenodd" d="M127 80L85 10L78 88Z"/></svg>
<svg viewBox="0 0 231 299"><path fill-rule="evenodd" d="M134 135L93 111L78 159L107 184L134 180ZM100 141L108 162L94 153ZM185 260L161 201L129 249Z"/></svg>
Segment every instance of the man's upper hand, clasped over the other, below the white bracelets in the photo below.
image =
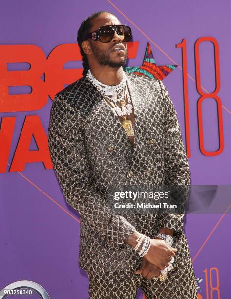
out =
<svg viewBox="0 0 231 299"><path fill-rule="evenodd" d="M151 247L144 258L161 270L169 265L171 257L175 256L177 249L172 248L163 240L151 239Z"/></svg>

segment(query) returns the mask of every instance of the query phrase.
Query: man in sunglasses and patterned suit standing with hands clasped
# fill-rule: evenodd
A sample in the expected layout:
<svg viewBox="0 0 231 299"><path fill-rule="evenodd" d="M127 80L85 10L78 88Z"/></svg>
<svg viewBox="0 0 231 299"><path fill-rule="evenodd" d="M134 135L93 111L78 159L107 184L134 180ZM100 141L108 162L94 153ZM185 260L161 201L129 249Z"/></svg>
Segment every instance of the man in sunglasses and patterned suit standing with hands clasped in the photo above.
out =
<svg viewBox="0 0 231 299"><path fill-rule="evenodd" d="M133 299L140 286L147 299L195 299L184 214L118 215L108 205L110 185L190 182L165 86L123 71L130 39L131 29L111 13L82 22L83 77L51 108L54 171L81 215L79 266L88 273L90 298Z"/></svg>

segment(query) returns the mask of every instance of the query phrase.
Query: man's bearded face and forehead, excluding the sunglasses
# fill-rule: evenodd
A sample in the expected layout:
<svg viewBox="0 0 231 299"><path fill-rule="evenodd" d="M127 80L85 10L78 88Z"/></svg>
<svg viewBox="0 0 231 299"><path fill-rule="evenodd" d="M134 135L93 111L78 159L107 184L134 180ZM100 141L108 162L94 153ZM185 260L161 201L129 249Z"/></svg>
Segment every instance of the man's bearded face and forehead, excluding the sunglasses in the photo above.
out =
<svg viewBox="0 0 231 299"><path fill-rule="evenodd" d="M105 25L120 25L120 21L113 15L102 13L97 18L91 21L92 28L90 32L98 30ZM100 65L110 67L121 67L126 63L127 58L127 45L121 40L121 37L115 33L111 42L102 43L89 39L91 51L94 59ZM115 50L116 46L123 46L123 51Z"/></svg>

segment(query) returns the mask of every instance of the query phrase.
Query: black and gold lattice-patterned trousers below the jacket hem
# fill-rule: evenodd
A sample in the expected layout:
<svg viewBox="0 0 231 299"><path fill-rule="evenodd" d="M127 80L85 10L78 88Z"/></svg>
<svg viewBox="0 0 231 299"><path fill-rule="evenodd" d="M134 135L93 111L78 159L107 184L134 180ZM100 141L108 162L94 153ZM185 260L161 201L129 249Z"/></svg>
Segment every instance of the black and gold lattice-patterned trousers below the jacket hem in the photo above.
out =
<svg viewBox="0 0 231 299"><path fill-rule="evenodd" d="M184 264L184 260L182 261ZM146 299L197 299L194 275L189 262L168 272L163 282L147 280L131 271L87 271L90 299L136 299L141 287ZM178 269L176 269L178 268ZM182 271L184 269L184 271Z"/></svg>

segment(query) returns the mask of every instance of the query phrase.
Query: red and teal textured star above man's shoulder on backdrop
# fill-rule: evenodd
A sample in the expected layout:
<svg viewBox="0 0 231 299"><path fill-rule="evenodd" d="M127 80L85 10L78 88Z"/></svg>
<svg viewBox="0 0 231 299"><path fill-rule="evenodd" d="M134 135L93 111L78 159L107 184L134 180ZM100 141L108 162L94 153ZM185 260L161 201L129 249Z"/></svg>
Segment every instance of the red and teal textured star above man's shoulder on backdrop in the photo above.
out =
<svg viewBox="0 0 231 299"><path fill-rule="evenodd" d="M156 65L152 54L150 43L147 43L145 57L142 66L124 66L124 71L138 75L148 76L163 80L168 76L178 65Z"/></svg>

